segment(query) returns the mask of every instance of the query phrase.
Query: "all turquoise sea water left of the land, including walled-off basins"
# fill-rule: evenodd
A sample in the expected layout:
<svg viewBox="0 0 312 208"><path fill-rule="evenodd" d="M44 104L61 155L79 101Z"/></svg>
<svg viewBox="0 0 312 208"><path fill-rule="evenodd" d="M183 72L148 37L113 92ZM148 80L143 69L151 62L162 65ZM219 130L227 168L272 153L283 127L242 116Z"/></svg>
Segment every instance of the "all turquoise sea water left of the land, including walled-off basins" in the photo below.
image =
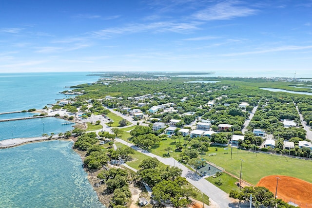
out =
<svg viewBox="0 0 312 208"><path fill-rule="evenodd" d="M98 80L89 73L0 74L0 113L42 109L73 86ZM33 113L0 114L0 119ZM0 122L0 140L66 132L55 117ZM101 208L72 142L49 141L0 150L0 207Z"/></svg>

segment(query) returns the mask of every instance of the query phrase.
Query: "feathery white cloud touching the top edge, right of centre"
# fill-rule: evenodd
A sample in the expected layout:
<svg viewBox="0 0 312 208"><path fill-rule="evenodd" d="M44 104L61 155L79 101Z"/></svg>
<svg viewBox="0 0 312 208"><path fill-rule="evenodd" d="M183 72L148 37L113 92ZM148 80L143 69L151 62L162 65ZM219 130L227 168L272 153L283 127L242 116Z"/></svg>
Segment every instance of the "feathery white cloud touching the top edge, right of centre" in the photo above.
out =
<svg viewBox="0 0 312 208"><path fill-rule="evenodd" d="M248 8L246 6L239 6L238 4L241 3L241 1L236 0L223 1L195 13L193 18L204 21L223 20L237 17L246 17L254 15L258 12L256 9Z"/></svg>

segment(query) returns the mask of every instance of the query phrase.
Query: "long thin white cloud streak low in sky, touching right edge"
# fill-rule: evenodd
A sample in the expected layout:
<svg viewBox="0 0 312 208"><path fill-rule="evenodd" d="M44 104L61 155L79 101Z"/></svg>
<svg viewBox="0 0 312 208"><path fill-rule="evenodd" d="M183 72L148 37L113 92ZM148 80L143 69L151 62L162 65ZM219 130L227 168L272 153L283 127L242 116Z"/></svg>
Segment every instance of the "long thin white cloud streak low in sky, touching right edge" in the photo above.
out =
<svg viewBox="0 0 312 208"><path fill-rule="evenodd" d="M306 49L312 49L312 45L308 45L308 46L287 45L287 46L281 46L281 47L269 48L269 49L263 49L263 50L257 50L257 51L224 54L222 56L233 57L233 56L243 56L243 55L253 55L253 54L267 54L267 53L282 52L282 51L298 51L298 50L306 50Z"/></svg>

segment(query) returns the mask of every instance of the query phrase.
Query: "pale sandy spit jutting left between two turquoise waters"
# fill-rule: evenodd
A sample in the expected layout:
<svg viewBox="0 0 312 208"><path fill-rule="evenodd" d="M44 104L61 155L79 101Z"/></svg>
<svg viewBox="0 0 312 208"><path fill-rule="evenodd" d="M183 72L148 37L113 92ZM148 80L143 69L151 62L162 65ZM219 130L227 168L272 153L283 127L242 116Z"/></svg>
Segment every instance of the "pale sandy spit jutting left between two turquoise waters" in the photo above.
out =
<svg viewBox="0 0 312 208"><path fill-rule="evenodd" d="M47 138L47 137L13 138L13 139L5 139L5 140L0 141L0 149L13 148L13 147L21 146L21 145L26 145L26 144L36 143L36 142L45 142L45 141L51 141L51 140L73 141L70 138L66 139L58 135L55 135L52 138Z"/></svg>

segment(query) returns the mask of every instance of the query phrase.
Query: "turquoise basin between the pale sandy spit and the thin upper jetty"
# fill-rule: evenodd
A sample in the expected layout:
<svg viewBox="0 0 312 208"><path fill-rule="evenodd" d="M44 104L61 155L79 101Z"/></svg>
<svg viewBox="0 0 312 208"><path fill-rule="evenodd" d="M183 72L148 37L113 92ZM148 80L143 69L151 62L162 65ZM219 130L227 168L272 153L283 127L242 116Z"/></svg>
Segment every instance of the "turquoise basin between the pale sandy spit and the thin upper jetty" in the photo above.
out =
<svg viewBox="0 0 312 208"><path fill-rule="evenodd" d="M64 122L66 121L55 117L0 122L0 141L10 138L39 137L43 133L58 134L73 129L72 125L62 125Z"/></svg>

